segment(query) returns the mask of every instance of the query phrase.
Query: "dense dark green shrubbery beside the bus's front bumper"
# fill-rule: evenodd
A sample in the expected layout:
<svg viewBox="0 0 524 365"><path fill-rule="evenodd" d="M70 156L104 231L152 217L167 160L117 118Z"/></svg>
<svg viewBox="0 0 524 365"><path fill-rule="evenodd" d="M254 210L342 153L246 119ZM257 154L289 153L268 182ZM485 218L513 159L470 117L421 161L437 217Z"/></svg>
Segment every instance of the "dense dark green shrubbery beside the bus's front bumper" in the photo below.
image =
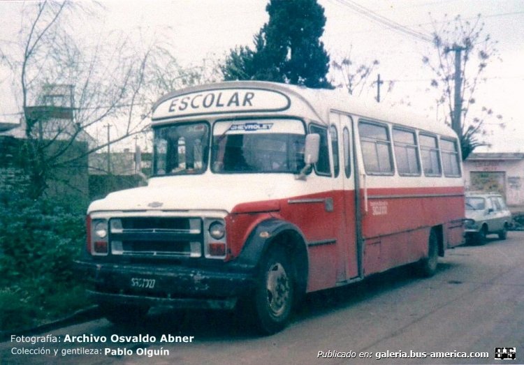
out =
<svg viewBox="0 0 524 365"><path fill-rule="evenodd" d="M87 304L73 260L85 247L85 218L23 184L0 181L0 330L22 329ZM2 186L3 185L3 186Z"/></svg>

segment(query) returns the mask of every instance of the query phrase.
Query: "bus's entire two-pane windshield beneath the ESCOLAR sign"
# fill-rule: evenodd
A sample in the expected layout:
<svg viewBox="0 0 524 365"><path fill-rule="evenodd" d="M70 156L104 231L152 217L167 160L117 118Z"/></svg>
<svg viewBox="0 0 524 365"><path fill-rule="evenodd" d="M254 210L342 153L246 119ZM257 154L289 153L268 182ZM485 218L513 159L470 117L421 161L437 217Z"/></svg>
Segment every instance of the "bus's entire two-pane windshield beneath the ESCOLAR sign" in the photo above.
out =
<svg viewBox="0 0 524 365"><path fill-rule="evenodd" d="M212 142L210 148L210 140ZM298 173L304 167L305 128L294 119L219 121L154 128L155 176L215 173ZM211 151L211 156L210 156Z"/></svg>

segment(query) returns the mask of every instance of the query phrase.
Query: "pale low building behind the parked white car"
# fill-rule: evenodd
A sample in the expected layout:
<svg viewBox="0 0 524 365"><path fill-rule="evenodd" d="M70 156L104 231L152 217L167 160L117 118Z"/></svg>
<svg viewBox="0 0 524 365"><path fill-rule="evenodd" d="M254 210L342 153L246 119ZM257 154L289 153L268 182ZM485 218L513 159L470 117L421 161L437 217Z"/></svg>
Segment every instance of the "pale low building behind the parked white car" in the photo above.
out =
<svg viewBox="0 0 524 365"><path fill-rule="evenodd" d="M498 191L509 206L524 206L524 154L471 154L464 177L467 190Z"/></svg>

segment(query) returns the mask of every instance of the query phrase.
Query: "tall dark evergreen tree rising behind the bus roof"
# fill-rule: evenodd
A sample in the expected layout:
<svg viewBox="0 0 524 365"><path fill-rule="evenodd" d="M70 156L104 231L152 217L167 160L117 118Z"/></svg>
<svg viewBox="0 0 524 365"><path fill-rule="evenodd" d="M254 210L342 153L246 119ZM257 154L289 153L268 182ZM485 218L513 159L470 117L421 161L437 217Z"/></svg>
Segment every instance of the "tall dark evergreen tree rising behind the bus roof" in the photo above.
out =
<svg viewBox="0 0 524 365"><path fill-rule="evenodd" d="M231 50L224 80L265 80L328 87L329 56L320 37L326 24L316 0L270 0L269 22L254 36L255 49Z"/></svg>

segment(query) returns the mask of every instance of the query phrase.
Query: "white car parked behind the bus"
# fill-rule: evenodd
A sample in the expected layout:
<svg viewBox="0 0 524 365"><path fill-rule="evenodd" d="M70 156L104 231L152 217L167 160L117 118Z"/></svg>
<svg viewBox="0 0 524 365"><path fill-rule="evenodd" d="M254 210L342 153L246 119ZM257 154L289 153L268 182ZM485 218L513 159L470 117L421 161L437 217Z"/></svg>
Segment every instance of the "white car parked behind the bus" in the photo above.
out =
<svg viewBox="0 0 524 365"><path fill-rule="evenodd" d="M465 238L467 243L484 244L488 234L506 239L511 212L500 193L467 192L465 197Z"/></svg>

